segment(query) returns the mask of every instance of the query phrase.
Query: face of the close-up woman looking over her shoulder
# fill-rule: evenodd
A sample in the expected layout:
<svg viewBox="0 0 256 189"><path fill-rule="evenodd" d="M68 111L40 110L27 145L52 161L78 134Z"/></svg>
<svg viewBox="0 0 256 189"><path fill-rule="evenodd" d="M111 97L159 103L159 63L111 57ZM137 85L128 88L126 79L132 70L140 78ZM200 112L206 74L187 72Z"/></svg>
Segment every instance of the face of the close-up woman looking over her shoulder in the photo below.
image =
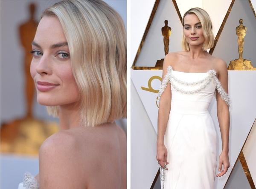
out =
<svg viewBox="0 0 256 189"><path fill-rule="evenodd" d="M30 73L41 105L78 102L79 91L71 69L70 51L57 17L43 17L32 42Z"/></svg>

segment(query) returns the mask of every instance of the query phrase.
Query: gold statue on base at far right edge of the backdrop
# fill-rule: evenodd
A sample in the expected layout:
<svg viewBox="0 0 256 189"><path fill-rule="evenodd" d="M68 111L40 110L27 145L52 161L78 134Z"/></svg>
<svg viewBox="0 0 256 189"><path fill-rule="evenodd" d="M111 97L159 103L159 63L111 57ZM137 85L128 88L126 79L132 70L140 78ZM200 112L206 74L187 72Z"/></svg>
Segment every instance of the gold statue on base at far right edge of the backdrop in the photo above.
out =
<svg viewBox="0 0 256 189"><path fill-rule="evenodd" d="M243 19L239 20L240 25L236 27L236 35L238 37L238 52L239 59L230 61L228 70L256 70L250 60L243 59L244 52L244 37L246 35L247 28L243 25Z"/></svg>

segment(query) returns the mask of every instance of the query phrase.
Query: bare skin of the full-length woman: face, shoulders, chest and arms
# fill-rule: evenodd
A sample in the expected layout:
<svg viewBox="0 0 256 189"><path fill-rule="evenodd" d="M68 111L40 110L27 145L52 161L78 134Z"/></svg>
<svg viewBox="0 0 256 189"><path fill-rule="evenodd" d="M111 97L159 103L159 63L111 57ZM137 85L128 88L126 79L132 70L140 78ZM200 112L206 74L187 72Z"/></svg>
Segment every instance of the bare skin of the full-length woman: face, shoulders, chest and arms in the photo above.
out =
<svg viewBox="0 0 256 189"><path fill-rule="evenodd" d="M186 37L186 41L189 43L189 51L167 54L163 62L162 78L164 78L166 75L167 67L169 65L172 66L173 70L180 72L206 73L207 71L214 69L216 71L216 76L221 82L221 86L228 93L227 65L224 60L211 56L207 51L202 51L204 43L202 25L195 14L188 14L184 17L183 31ZM194 40L192 40L191 37ZM168 152L164 144L164 135L169 119L169 112L171 110L171 100L171 85L168 83L161 96L158 111L157 161L162 167L164 167L165 164L169 164L169 162L166 160ZM219 156L218 162L219 173L216 176L221 177L230 167L228 157L230 113L229 107L221 99L221 96L218 93L216 93L216 100L217 116L222 141L222 152Z"/></svg>

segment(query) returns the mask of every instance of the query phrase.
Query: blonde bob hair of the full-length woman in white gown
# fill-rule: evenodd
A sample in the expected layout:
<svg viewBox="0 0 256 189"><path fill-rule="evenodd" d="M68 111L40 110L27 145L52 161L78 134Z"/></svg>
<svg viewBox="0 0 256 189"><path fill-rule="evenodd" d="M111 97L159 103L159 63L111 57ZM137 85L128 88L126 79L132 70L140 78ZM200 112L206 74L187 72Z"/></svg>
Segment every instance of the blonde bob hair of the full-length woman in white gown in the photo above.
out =
<svg viewBox="0 0 256 189"><path fill-rule="evenodd" d="M202 51L206 51L207 49L212 48L214 45L214 42L215 42L215 38L214 38L214 34L212 32L212 22L209 17L209 14L202 8L198 8L198 7L191 8L188 11L186 11L186 13L184 14L184 16L182 18L183 27L184 27L184 18L188 14L195 14L198 17L198 19L202 25L202 31L203 31L203 35L204 35L204 44L203 44ZM189 43L186 42L184 33L183 33L181 46L184 49L184 51L189 51Z"/></svg>

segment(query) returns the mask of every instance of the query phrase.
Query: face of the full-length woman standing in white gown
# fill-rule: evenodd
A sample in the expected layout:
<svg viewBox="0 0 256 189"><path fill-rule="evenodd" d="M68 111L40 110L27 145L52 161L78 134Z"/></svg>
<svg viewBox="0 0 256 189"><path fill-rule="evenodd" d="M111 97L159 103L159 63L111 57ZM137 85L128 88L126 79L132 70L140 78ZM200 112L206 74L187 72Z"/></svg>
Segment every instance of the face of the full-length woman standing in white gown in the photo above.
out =
<svg viewBox="0 0 256 189"><path fill-rule="evenodd" d="M184 17L183 31L189 45L197 46L204 43L202 24L195 14L188 14Z"/></svg>

